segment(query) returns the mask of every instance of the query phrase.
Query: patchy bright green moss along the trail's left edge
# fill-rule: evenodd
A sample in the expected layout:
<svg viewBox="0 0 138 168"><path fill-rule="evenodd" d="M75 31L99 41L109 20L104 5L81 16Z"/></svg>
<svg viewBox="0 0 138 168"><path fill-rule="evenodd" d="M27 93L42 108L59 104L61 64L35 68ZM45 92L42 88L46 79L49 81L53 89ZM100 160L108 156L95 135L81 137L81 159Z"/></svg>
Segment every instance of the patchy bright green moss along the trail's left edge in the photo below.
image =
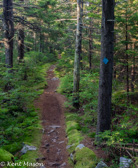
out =
<svg viewBox="0 0 138 168"><path fill-rule="evenodd" d="M42 66L42 69L40 70L41 76L45 79L46 77L46 71L49 69L51 64L45 64ZM39 92L38 94L42 94L45 87L47 85L47 82L44 81L36 86L33 87L33 89L37 90ZM31 107L31 104L29 105ZM16 161L16 163L21 162L22 165L24 162L29 162L29 163L36 163L36 158L40 157L40 152L39 152L39 146L41 143L42 139L42 125L39 120L39 111L35 110L35 112L31 113L31 117L36 117L37 116L37 122L35 125L31 125L27 128L28 132L25 133L24 137L24 143L28 144L30 146L35 146L37 147L36 151L28 151L26 154L22 155L19 160ZM18 166L17 166L18 167ZM28 166L23 166L22 168L26 168ZM15 167L16 168L16 167Z"/></svg>

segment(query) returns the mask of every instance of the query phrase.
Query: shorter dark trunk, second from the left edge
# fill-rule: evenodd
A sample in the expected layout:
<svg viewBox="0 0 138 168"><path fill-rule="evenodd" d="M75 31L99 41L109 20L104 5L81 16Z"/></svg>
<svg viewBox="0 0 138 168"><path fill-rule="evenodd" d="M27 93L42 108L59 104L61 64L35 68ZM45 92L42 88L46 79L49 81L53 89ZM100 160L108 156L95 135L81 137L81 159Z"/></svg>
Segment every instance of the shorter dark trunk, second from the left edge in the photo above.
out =
<svg viewBox="0 0 138 168"><path fill-rule="evenodd" d="M24 19L24 17L22 18ZM24 21L21 21L19 31L18 31L18 57L19 62L24 59Z"/></svg>

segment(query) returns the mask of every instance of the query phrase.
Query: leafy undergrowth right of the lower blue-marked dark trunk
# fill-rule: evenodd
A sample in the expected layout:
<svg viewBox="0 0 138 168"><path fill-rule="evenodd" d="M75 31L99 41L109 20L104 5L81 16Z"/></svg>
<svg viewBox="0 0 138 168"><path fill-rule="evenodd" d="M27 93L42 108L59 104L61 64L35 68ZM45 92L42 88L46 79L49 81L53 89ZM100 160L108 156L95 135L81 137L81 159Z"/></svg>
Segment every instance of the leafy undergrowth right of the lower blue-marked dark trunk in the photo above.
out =
<svg viewBox="0 0 138 168"><path fill-rule="evenodd" d="M137 105L138 92L129 94L130 103L127 104L127 94L125 91L113 93L113 114L111 131L105 131L101 134L102 139L106 139L108 146L114 146L116 143L128 144L138 143L138 123L137 123Z"/></svg>

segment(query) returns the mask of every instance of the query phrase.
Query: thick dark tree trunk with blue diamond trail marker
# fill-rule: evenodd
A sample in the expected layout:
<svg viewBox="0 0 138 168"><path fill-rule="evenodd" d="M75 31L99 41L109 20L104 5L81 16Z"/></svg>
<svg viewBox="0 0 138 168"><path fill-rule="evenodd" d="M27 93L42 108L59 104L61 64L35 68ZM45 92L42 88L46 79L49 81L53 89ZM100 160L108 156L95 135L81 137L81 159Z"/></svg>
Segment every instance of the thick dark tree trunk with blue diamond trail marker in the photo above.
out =
<svg viewBox="0 0 138 168"><path fill-rule="evenodd" d="M114 43L114 0L102 0L102 37L97 134L110 129Z"/></svg>

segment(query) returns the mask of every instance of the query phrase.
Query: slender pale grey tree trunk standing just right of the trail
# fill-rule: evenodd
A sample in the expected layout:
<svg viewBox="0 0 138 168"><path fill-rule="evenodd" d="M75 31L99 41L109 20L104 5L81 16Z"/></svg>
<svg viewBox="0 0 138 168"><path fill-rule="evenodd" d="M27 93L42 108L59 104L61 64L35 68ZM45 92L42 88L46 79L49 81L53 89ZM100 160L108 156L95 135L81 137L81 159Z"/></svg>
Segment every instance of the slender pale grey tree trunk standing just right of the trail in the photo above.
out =
<svg viewBox="0 0 138 168"><path fill-rule="evenodd" d="M74 82L73 82L73 106L77 109L79 108L81 40L82 40L82 9L81 9L81 0L77 0L77 31L76 31L76 50L74 60Z"/></svg>

